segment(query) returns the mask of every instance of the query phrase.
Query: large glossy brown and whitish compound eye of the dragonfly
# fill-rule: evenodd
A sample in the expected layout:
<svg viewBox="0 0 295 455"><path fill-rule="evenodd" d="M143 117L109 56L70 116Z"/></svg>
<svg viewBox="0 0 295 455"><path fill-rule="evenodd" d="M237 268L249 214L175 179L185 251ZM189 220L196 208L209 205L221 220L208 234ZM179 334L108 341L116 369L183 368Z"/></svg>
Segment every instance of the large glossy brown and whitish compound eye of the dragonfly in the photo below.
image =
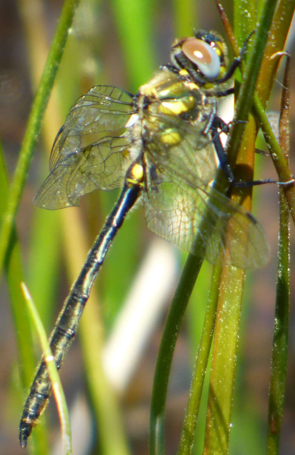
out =
<svg viewBox="0 0 295 455"><path fill-rule="evenodd" d="M214 81L219 76L220 58L208 43L191 38L184 41L182 51L209 81Z"/></svg>

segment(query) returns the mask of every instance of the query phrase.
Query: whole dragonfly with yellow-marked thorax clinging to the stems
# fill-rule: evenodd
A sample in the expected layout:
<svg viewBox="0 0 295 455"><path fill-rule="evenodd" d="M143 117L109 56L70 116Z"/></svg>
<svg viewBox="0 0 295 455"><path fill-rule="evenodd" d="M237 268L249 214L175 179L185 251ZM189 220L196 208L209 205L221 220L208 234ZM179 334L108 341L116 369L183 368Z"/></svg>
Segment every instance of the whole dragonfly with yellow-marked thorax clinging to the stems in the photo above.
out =
<svg viewBox="0 0 295 455"><path fill-rule="evenodd" d="M214 185L220 167L229 185L234 182L220 140L228 125L217 114L217 101L233 93L230 79L243 52L229 66L224 40L201 30L175 40L171 63L160 66L135 95L114 86L94 86L72 106L56 136L50 173L35 204L54 210L79 205L82 195L96 189L122 191L51 333L58 369L107 250L137 200L154 233L210 263L220 263L225 242L225 263L260 268L268 262L259 222ZM41 359L20 420L22 447L50 393Z"/></svg>

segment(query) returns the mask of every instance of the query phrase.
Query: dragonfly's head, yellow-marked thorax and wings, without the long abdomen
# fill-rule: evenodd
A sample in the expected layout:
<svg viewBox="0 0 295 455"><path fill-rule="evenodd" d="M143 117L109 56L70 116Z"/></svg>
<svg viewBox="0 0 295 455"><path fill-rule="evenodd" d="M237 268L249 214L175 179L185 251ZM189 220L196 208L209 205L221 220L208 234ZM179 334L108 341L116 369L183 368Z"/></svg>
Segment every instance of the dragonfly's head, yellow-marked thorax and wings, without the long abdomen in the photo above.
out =
<svg viewBox="0 0 295 455"><path fill-rule="evenodd" d="M126 169L140 162L150 229L191 251L207 210L211 227L201 233L200 253L215 263L229 235L227 261L261 267L269 252L259 224L210 185L218 164L212 128L217 96L229 93L224 41L202 31L176 40L171 61L135 96L112 86L81 96L56 137L51 173L35 203L78 205L83 194L122 186Z"/></svg>

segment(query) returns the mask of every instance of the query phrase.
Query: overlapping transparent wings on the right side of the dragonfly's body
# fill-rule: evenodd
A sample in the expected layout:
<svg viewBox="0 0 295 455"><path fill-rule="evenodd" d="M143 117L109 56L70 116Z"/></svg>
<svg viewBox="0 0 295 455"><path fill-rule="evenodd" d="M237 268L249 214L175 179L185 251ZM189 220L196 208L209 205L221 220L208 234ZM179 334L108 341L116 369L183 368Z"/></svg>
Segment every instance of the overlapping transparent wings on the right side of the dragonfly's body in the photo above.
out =
<svg viewBox="0 0 295 455"><path fill-rule="evenodd" d="M211 263L260 268L269 247L256 219L211 188L218 160L204 122L189 123L154 115L158 129L145 138L148 192L144 195L148 227L158 235ZM152 164L151 164L152 163ZM200 251L194 251L194 239ZM224 258L219 252L225 252Z"/></svg>

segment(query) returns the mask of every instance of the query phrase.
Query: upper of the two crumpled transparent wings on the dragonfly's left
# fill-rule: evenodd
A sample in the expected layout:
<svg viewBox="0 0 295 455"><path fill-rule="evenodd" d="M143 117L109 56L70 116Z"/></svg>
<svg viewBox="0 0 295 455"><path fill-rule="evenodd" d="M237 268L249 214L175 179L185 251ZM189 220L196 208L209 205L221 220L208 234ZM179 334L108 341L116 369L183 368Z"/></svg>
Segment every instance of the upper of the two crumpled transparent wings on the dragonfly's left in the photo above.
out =
<svg viewBox="0 0 295 455"><path fill-rule="evenodd" d="M117 87L95 86L71 107L52 147L50 172L66 155L101 140L122 134L134 112L132 95ZM113 133L112 133L113 132Z"/></svg>

